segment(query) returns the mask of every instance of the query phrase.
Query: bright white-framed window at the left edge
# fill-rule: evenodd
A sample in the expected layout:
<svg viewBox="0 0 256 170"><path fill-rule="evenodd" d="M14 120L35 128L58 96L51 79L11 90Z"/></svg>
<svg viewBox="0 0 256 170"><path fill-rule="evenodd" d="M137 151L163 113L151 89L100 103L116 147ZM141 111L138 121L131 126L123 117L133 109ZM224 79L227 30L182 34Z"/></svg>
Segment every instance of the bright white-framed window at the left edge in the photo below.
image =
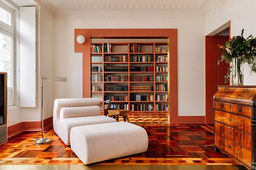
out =
<svg viewBox="0 0 256 170"><path fill-rule="evenodd" d="M0 72L7 72L7 105L14 106L14 10L0 1Z"/></svg>

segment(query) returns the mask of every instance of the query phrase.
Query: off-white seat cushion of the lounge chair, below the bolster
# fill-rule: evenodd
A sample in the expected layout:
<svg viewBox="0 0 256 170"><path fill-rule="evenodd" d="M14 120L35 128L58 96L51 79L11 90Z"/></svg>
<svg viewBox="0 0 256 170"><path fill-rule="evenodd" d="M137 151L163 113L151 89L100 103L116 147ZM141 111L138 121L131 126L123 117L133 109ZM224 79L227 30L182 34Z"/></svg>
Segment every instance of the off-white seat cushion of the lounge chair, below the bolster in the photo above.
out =
<svg viewBox="0 0 256 170"><path fill-rule="evenodd" d="M61 131L58 136L66 145L70 145L70 131L71 128L76 126L83 126L88 124L110 123L116 122L114 118L107 116L88 116L88 117L75 117L61 119L58 126L61 127Z"/></svg>

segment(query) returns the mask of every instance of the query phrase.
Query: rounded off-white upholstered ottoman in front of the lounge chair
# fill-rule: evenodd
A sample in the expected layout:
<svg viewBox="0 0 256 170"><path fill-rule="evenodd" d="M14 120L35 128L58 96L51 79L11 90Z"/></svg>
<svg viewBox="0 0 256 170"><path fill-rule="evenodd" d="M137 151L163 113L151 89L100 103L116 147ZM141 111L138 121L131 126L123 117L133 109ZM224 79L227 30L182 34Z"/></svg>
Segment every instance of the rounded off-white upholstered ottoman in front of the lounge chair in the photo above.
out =
<svg viewBox="0 0 256 170"><path fill-rule="evenodd" d="M85 164L145 152L144 128L128 122L78 126L71 129L71 149Z"/></svg>

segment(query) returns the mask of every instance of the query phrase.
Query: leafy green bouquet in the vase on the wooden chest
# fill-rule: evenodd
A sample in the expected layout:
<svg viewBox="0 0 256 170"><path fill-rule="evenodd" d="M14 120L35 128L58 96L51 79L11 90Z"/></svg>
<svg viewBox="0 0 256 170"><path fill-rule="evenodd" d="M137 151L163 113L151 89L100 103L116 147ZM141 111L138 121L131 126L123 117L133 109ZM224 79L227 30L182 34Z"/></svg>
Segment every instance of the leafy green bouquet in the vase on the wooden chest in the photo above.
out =
<svg viewBox="0 0 256 170"><path fill-rule="evenodd" d="M223 53L218 64L222 61L231 63L235 59L238 65L248 63L251 71L256 73L256 37L253 37L252 34L249 37L244 38L244 29L242 29L240 36L234 36L233 38L230 38L224 46L218 46ZM239 74L243 74L239 67L236 67L235 69L235 66L233 65L234 64L228 67L228 73L224 76L225 83L230 80L230 73L236 72L235 74L238 74L238 76Z"/></svg>

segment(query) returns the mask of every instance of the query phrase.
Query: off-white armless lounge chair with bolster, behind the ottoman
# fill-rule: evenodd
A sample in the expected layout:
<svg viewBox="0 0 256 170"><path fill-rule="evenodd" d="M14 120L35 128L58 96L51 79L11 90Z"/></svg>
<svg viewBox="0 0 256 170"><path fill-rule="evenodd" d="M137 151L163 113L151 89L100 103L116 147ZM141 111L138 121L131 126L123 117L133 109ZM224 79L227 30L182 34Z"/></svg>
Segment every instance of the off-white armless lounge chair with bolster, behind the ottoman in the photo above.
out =
<svg viewBox="0 0 256 170"><path fill-rule="evenodd" d="M101 115L98 98L55 99L53 129L66 145L70 145L71 128L111 122L116 122L116 120Z"/></svg>

